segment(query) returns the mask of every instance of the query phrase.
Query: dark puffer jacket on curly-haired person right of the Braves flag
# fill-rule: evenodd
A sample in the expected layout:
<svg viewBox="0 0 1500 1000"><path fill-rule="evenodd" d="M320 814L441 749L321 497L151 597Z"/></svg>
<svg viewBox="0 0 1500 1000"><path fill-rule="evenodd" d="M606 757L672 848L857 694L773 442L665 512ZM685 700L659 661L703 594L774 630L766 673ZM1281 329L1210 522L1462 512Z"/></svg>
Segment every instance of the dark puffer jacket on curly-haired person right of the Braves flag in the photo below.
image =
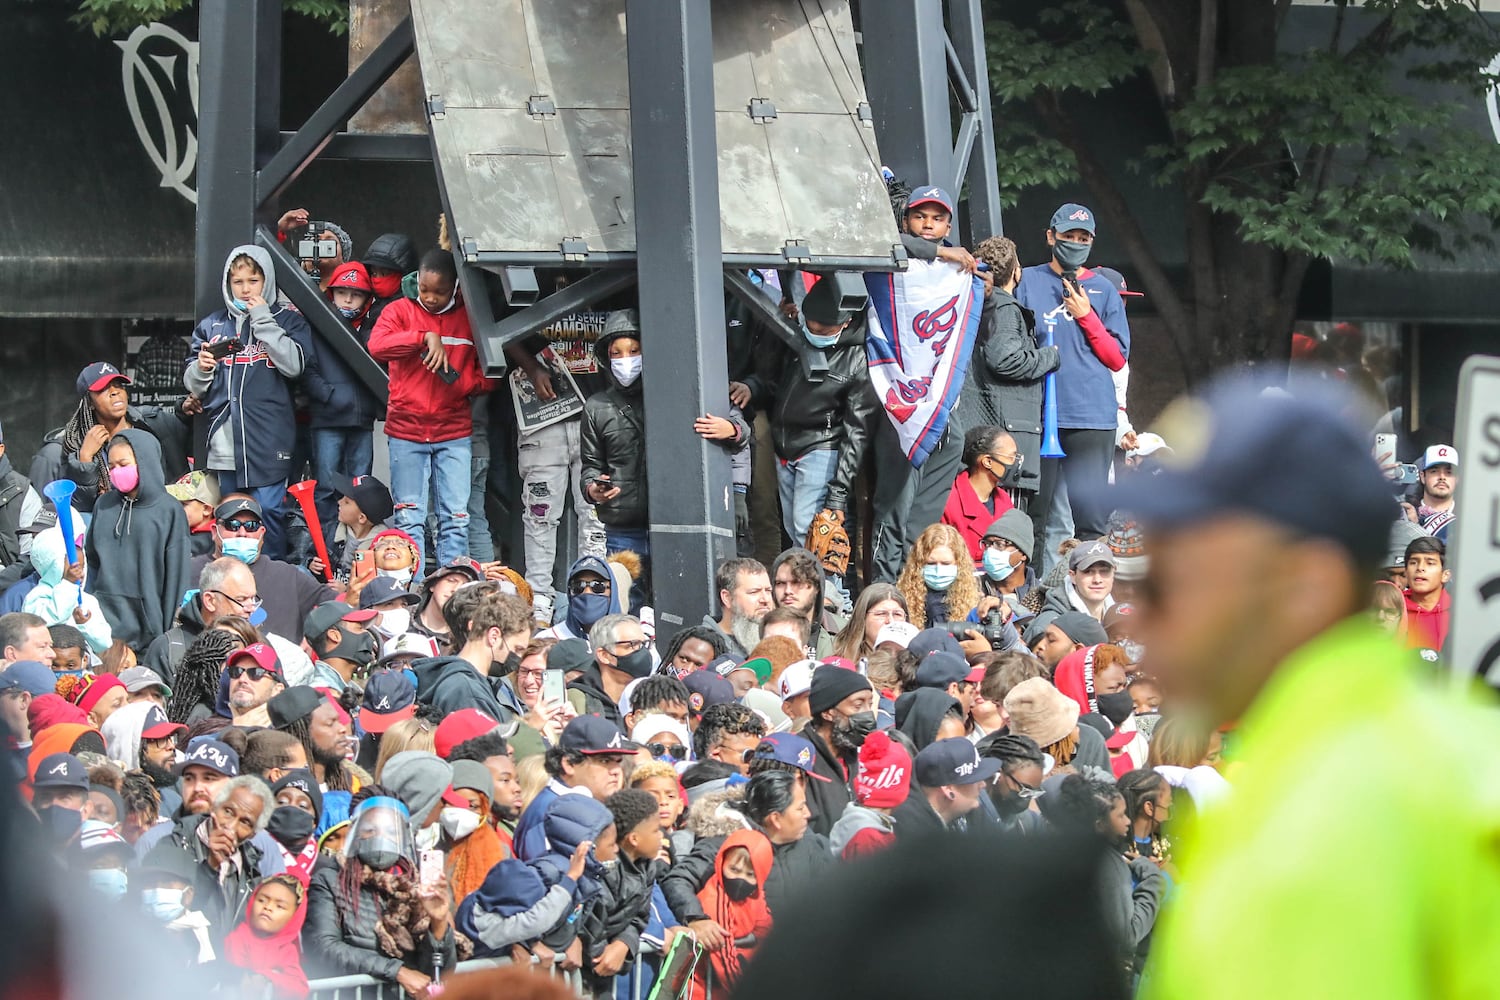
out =
<svg viewBox="0 0 1500 1000"><path fill-rule="evenodd" d="M996 288L984 300L980 342L958 397L962 427L1005 427L1026 456L1017 486L1041 486L1042 376L1058 369L1058 348L1036 345L1036 321L1016 295Z"/></svg>

